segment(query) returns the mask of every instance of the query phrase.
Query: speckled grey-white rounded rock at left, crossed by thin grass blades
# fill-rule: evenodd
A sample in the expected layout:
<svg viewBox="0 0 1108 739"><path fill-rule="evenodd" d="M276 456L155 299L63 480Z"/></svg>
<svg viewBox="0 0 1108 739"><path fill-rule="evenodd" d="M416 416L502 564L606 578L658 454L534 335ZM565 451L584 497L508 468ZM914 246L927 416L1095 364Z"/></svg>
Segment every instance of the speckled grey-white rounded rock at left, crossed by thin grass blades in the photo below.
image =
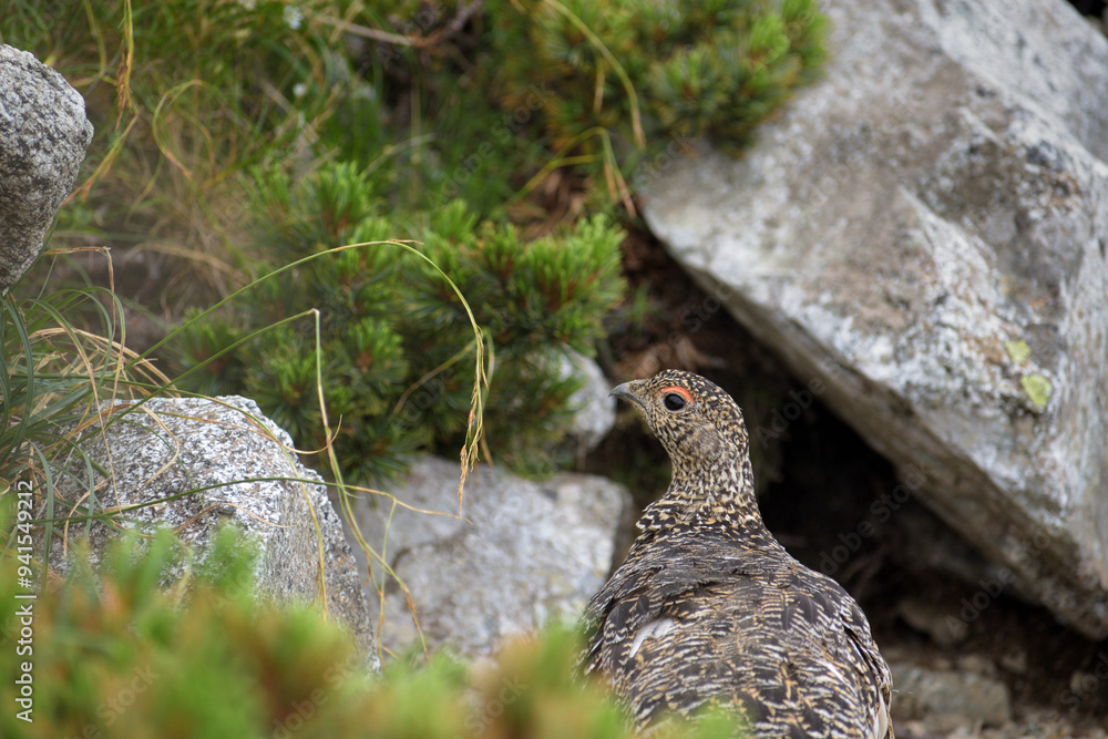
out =
<svg viewBox="0 0 1108 739"><path fill-rule="evenodd" d="M143 530L172 527L199 551L218 525L234 523L260 545L260 593L277 602L319 602L326 589L328 614L347 625L376 667L373 630L342 524L319 475L297 460L288 434L253 400L239 397L158 398L126 415L123 409L114 407L103 435L91 430L82 444L91 460L113 471L99 489L96 507L152 503L117 521ZM72 470L85 473L83 463ZM63 476L58 489L72 503L84 495L88 481ZM71 535L80 531L83 523L70 526ZM113 536L113 528L92 524L94 562ZM50 565L55 572L69 566L58 541Z"/></svg>

